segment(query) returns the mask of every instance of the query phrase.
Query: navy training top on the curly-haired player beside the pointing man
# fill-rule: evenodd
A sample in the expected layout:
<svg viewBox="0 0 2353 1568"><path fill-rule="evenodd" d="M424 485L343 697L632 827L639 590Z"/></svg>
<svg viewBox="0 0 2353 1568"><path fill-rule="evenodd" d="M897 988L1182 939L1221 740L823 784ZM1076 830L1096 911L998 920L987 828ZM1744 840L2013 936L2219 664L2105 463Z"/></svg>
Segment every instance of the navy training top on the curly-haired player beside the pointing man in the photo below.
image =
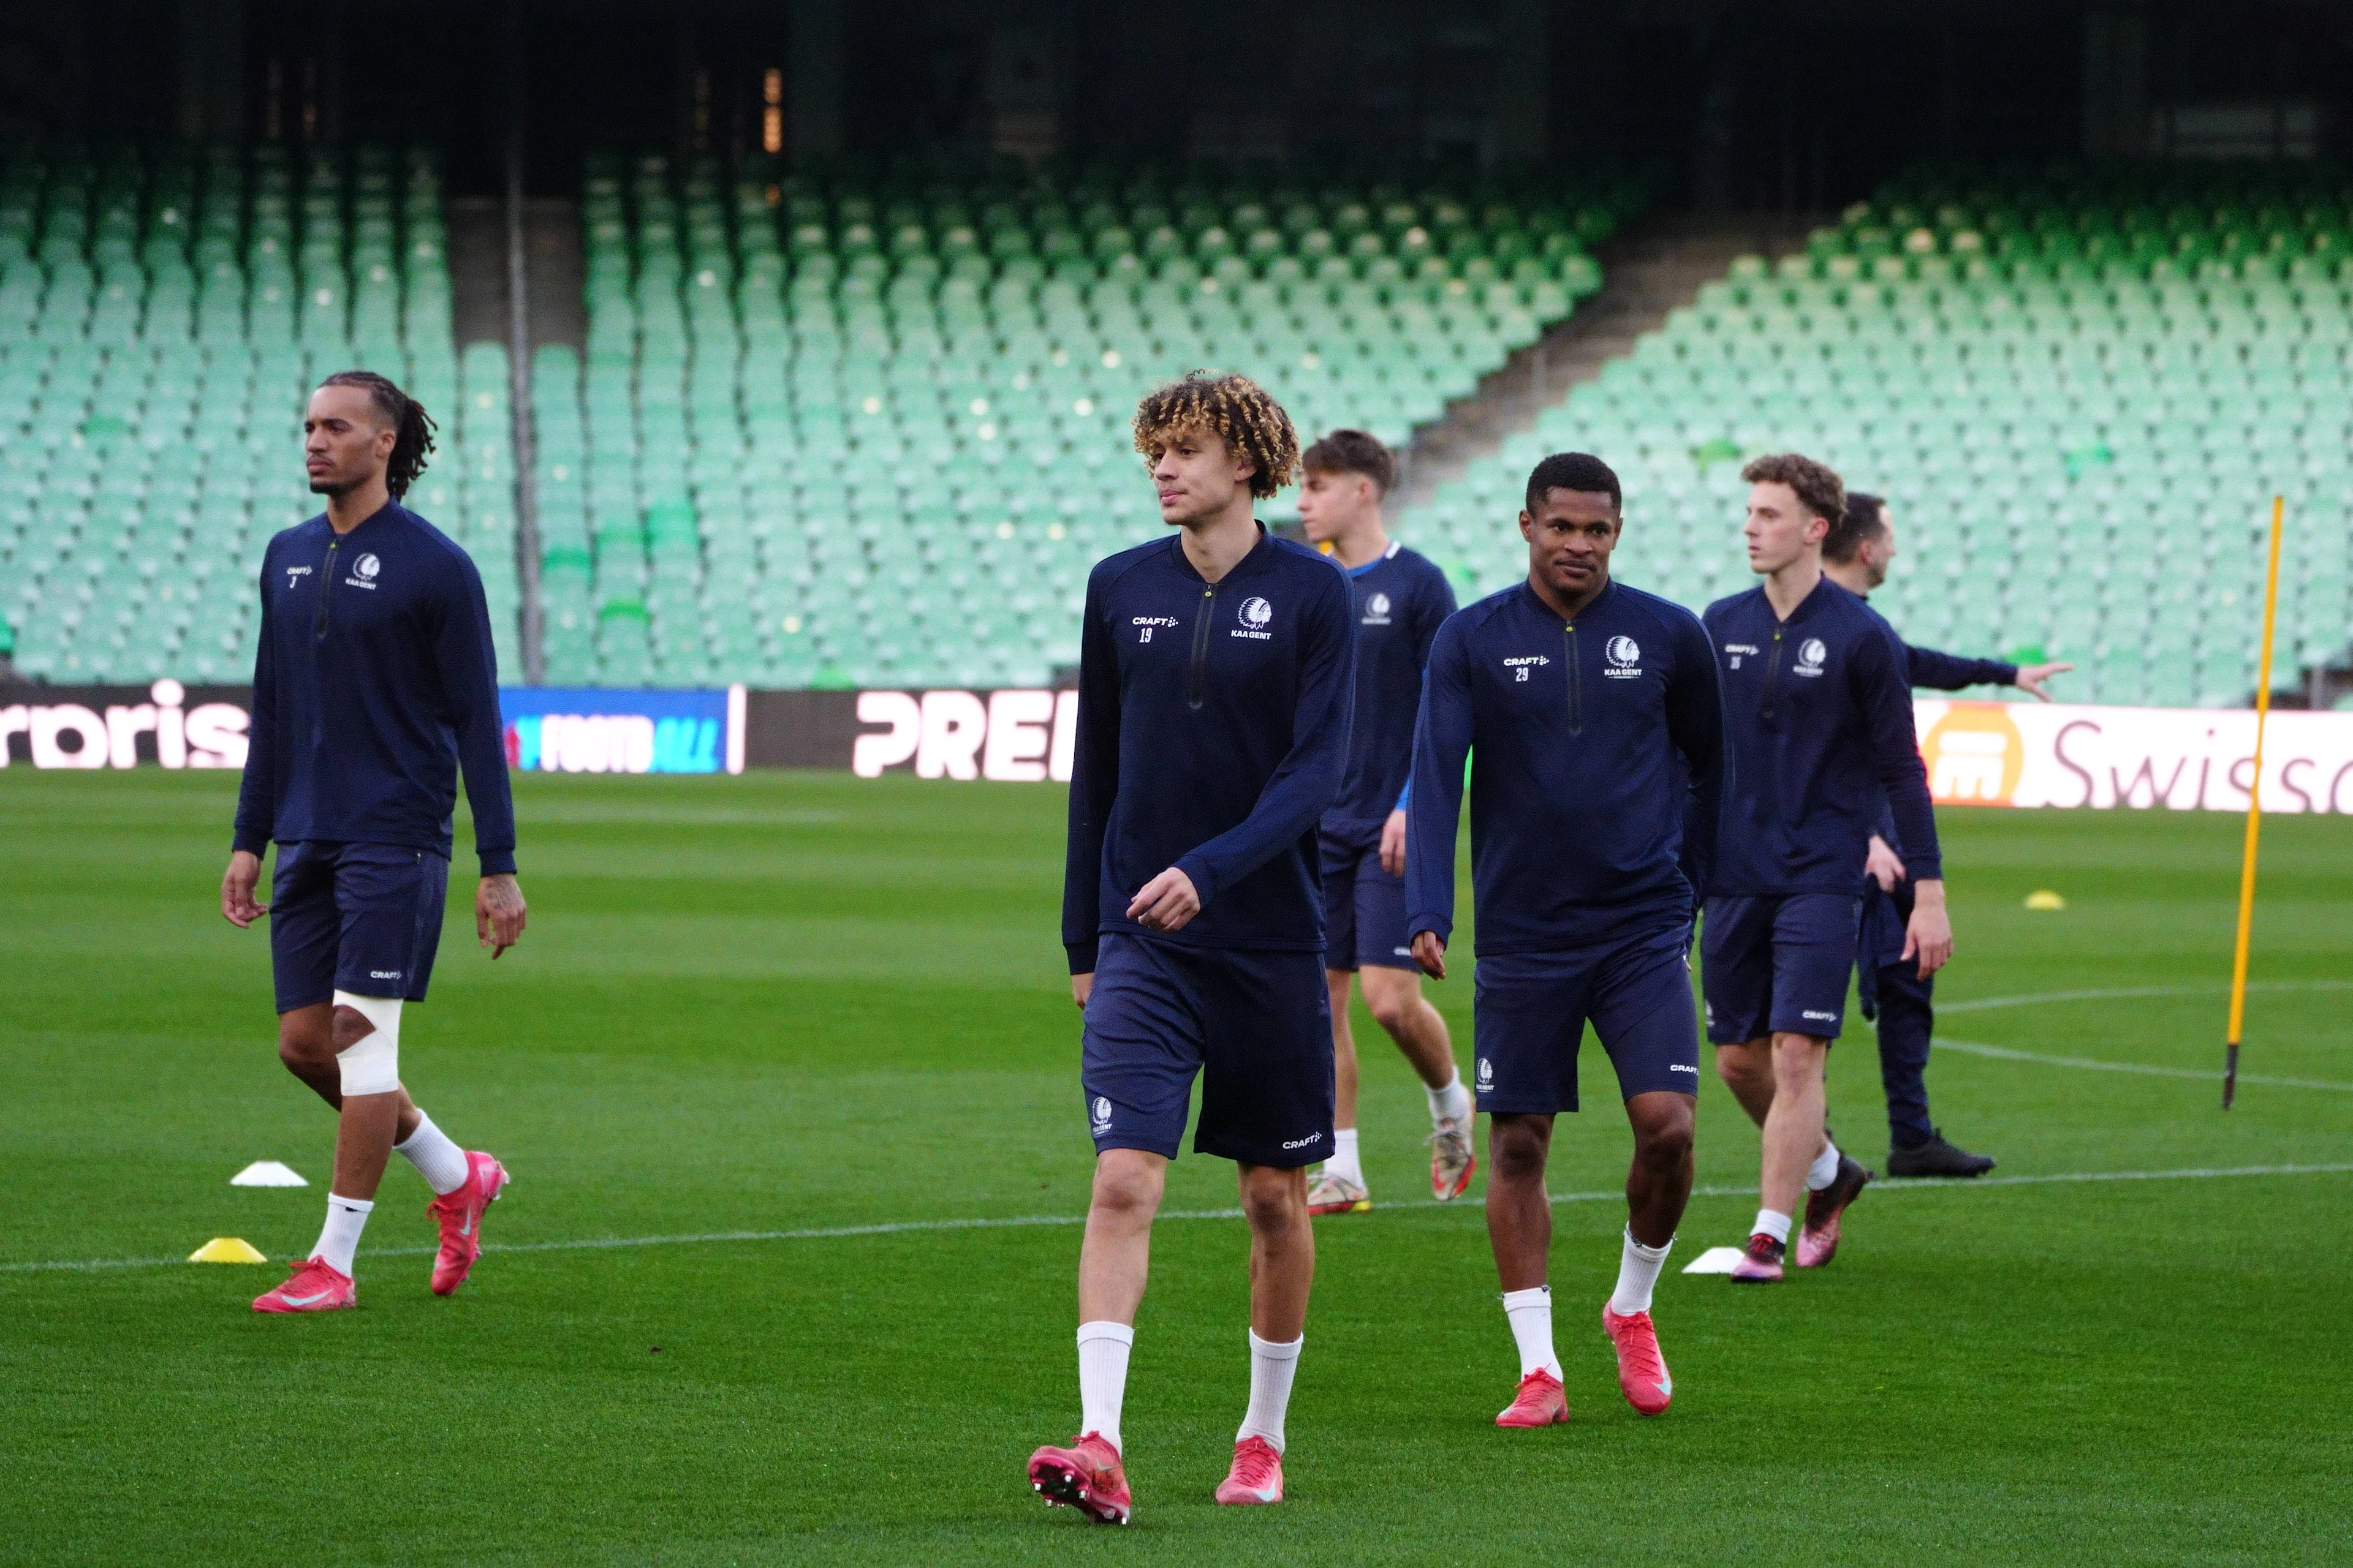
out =
<svg viewBox="0 0 2353 1568"><path fill-rule="evenodd" d="M1779 621L1765 588L1706 616L1725 677L1732 788L1720 896L1861 893L1864 851L1894 811L1913 879L1944 877L1913 729L1911 661L1875 609L1821 578Z"/></svg>

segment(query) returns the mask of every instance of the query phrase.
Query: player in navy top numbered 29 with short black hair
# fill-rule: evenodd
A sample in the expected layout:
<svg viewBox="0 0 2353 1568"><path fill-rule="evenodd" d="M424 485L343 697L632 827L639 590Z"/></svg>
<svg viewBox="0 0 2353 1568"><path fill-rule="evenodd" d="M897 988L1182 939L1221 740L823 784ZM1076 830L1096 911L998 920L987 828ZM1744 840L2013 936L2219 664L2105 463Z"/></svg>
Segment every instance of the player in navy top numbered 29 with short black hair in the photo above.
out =
<svg viewBox="0 0 2353 1568"><path fill-rule="evenodd" d="M1414 959L1445 978L1454 830L1471 773L1478 910L1478 1103L1487 1112L1487 1239L1520 1349L1499 1427L1569 1418L1553 1356L1544 1164L1577 1110L1586 1020L1617 1067L1633 1166L1619 1279L1602 1305L1619 1389L1642 1415L1673 1396L1652 1288L1692 1197L1699 1020L1692 914L1708 886L1725 715L1699 618L1612 578L1619 477L1565 451L1527 477L1527 581L1452 616L1431 646L1414 731L1405 858Z"/></svg>

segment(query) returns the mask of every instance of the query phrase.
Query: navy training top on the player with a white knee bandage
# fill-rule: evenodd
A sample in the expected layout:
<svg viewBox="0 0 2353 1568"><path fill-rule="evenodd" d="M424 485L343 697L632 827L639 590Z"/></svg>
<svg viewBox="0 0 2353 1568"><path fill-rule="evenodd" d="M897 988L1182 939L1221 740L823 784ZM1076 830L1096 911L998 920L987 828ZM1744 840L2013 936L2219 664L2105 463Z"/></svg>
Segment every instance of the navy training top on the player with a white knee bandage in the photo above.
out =
<svg viewBox="0 0 2353 1568"><path fill-rule="evenodd" d="M482 875L515 870L482 576L398 503L341 538L322 512L264 550L247 741L238 849L315 839L447 858L464 769Z"/></svg>

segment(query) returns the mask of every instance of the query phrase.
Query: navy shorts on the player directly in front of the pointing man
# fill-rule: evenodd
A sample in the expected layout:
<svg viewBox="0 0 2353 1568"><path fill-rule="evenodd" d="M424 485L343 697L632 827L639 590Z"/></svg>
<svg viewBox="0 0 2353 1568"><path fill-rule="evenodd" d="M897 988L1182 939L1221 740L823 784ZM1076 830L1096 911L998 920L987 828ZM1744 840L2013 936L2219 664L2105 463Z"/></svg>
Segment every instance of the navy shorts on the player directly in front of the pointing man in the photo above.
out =
<svg viewBox="0 0 2353 1568"><path fill-rule="evenodd" d="M1852 893L1711 898L1699 931L1708 1039L1718 1046L1781 1032L1838 1039L1861 910Z"/></svg>

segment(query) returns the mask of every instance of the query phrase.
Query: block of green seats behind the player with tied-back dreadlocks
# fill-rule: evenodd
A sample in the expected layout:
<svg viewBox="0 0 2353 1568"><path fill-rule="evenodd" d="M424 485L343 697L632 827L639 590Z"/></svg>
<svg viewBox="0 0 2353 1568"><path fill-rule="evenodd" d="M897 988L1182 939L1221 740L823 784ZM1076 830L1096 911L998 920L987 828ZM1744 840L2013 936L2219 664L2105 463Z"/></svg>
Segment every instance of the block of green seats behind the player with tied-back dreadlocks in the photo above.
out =
<svg viewBox="0 0 2353 1568"><path fill-rule="evenodd" d="M301 407L372 367L440 421L412 505L515 646L506 355L449 336L426 150L0 148L0 621L21 675L245 679L254 569L318 510Z"/></svg>

